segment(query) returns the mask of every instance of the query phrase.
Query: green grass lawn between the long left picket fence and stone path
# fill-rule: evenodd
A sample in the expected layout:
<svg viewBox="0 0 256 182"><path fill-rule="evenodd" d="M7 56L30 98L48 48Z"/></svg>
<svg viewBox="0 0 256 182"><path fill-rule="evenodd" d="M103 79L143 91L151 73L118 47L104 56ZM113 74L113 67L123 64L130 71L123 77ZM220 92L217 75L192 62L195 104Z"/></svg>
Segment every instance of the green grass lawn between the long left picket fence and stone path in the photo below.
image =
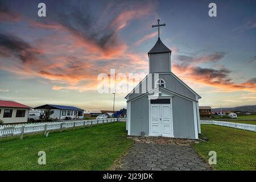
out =
<svg viewBox="0 0 256 182"><path fill-rule="evenodd" d="M133 143L125 123L0 139L0 170L106 170ZM38 152L46 152L46 165Z"/></svg>

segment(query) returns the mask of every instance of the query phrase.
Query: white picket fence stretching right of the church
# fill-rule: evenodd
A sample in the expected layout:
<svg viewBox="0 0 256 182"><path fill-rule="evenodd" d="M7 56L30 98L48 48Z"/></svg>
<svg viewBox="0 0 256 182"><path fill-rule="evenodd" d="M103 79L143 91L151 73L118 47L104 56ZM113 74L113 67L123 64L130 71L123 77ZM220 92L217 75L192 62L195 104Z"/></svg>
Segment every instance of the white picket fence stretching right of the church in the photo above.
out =
<svg viewBox="0 0 256 182"><path fill-rule="evenodd" d="M256 125L249 125L243 123L233 123L233 122L225 122L225 121L209 121L209 120L201 120L201 124L212 124L212 125L220 125L226 127L233 127L235 129L242 129L247 131L256 132Z"/></svg>

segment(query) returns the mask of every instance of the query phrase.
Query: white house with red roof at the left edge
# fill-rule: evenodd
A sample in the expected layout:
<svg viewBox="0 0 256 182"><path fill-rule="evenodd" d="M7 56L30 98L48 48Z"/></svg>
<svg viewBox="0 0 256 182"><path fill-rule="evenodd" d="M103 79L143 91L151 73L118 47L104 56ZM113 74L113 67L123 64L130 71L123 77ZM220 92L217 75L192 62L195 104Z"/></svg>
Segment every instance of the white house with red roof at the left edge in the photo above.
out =
<svg viewBox="0 0 256 182"><path fill-rule="evenodd" d="M29 106L18 102L0 100L0 119L4 124L27 122L29 110Z"/></svg>

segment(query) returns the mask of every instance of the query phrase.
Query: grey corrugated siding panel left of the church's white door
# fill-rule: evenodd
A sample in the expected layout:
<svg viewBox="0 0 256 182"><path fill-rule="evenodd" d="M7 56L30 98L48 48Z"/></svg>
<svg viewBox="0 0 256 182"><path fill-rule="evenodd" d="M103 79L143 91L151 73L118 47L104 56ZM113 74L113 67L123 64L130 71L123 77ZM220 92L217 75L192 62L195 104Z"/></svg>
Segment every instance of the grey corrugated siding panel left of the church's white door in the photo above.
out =
<svg viewBox="0 0 256 182"><path fill-rule="evenodd" d="M148 98L143 96L131 101L131 133L130 135L140 136L141 131L146 135L149 133Z"/></svg>

